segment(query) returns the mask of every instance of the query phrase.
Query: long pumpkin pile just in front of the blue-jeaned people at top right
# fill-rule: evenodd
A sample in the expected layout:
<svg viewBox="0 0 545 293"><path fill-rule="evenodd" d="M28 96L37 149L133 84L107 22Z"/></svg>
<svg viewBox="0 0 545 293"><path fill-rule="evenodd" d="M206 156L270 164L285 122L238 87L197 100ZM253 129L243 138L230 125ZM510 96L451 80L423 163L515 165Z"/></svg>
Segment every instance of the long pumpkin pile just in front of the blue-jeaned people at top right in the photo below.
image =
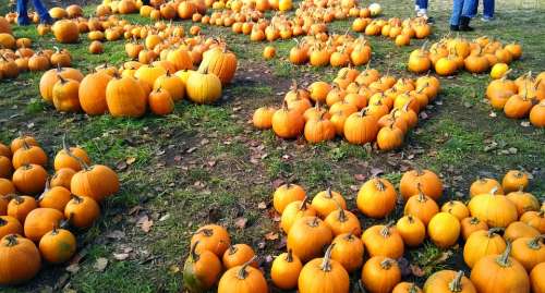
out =
<svg viewBox="0 0 545 293"><path fill-rule="evenodd" d="M438 75L455 75L459 70L470 73L484 73L498 63L509 64L522 56L519 44L501 44L486 36L468 40L462 37L443 38L429 49L422 48L411 52L408 70L425 73L434 70Z"/></svg>

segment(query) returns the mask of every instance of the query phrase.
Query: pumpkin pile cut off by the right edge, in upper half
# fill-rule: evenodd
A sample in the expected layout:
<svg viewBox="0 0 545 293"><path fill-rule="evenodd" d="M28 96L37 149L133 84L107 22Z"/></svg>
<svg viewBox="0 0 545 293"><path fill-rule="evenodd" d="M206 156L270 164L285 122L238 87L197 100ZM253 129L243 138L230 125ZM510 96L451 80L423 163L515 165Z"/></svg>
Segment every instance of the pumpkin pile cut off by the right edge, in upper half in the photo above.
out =
<svg viewBox="0 0 545 293"><path fill-rule="evenodd" d="M507 118L529 118L535 127L545 127L545 72L535 78L532 73L511 81L507 74L492 81L486 88L491 106Z"/></svg>

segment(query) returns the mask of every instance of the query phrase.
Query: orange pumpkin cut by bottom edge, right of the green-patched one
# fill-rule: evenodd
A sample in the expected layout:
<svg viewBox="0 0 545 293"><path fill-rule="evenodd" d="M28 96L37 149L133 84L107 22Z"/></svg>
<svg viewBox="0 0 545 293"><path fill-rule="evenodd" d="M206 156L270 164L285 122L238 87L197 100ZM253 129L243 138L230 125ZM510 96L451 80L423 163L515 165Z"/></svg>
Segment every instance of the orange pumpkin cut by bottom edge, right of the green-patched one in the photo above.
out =
<svg viewBox="0 0 545 293"><path fill-rule="evenodd" d="M186 2L183 2L186 3ZM250 263L227 270L218 284L218 293L267 293L268 286L261 270L251 267Z"/></svg>

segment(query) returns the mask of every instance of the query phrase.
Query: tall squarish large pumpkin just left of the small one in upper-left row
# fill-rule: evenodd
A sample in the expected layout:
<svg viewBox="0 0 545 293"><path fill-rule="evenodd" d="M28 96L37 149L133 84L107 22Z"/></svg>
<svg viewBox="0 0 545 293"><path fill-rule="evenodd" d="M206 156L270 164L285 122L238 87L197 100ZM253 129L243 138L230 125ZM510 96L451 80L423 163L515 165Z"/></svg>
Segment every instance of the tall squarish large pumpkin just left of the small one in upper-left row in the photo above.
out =
<svg viewBox="0 0 545 293"><path fill-rule="evenodd" d="M106 87L106 102L113 117L141 117L146 112L147 97L133 77L116 77Z"/></svg>

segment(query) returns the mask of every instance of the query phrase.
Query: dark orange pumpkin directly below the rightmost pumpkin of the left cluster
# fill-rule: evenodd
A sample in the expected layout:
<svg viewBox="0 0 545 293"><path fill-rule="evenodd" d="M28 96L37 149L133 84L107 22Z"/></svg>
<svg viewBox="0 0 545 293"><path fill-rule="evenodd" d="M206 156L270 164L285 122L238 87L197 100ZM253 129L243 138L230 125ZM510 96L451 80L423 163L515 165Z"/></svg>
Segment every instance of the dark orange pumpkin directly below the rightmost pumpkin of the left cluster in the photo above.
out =
<svg viewBox="0 0 545 293"><path fill-rule="evenodd" d="M78 229L92 227L99 216L100 207L95 199L88 196L74 195L64 208L64 217Z"/></svg>

